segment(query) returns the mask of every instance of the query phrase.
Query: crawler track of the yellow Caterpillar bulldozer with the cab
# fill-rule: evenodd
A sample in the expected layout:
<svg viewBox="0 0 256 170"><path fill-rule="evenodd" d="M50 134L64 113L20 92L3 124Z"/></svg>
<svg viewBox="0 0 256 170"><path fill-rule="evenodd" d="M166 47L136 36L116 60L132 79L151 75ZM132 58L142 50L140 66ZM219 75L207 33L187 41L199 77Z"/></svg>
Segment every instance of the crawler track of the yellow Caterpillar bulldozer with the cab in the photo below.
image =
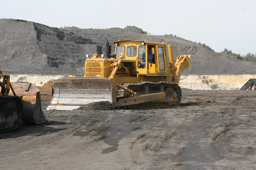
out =
<svg viewBox="0 0 256 170"><path fill-rule="evenodd" d="M125 108L128 109L156 109L156 108L167 108L167 107L176 107L178 104L180 104L181 98L182 98L182 91L180 89L180 86L176 83L169 83L169 82L138 82L138 83L132 83L132 84L121 84L123 87L130 88L130 89L148 89L148 88L158 88L160 86L163 86L163 88L159 88L158 90L148 90L149 94L154 94L158 92L166 92L167 88L174 88L177 92L177 98L178 101L176 104L168 104L168 102L148 102L148 103L141 103L136 105L130 105L125 106ZM146 88L148 87L148 88ZM117 89L119 98L126 98L126 96L123 96L124 90L118 88ZM143 90L141 91L134 91L138 94L144 93Z"/></svg>

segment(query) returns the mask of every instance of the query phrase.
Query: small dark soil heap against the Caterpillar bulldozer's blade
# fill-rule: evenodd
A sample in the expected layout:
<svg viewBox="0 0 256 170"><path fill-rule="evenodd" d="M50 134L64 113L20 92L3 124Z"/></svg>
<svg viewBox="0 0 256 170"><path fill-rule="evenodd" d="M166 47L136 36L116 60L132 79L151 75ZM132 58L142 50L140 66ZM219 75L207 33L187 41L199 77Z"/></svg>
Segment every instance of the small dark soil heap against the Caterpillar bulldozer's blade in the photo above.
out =
<svg viewBox="0 0 256 170"><path fill-rule="evenodd" d="M93 102L81 107L78 107L77 110L113 110L110 102Z"/></svg>

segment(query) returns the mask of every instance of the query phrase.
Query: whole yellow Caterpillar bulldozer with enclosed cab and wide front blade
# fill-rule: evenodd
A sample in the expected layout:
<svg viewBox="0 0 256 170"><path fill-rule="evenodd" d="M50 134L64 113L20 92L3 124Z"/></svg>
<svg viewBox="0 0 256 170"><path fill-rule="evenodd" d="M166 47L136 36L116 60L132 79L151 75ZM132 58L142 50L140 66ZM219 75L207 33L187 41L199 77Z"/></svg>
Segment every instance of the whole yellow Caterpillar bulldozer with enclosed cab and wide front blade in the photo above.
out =
<svg viewBox="0 0 256 170"><path fill-rule="evenodd" d="M84 77L52 80L52 102L47 109L72 110L100 101L130 109L180 103L178 83L182 70L190 64L190 55L178 56L174 64L172 45L133 40L114 44L114 54L106 40L106 56L86 56Z"/></svg>

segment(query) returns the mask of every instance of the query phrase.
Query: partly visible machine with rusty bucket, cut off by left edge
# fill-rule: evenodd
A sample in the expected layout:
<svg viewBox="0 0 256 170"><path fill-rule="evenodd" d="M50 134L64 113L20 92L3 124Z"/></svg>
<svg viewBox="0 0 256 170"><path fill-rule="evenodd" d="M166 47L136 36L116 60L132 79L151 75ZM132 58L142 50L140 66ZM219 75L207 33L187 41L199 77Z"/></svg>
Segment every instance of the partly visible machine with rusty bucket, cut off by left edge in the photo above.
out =
<svg viewBox="0 0 256 170"><path fill-rule="evenodd" d="M31 83L11 83L0 69L0 130L17 129L22 123L45 123L39 89Z"/></svg>

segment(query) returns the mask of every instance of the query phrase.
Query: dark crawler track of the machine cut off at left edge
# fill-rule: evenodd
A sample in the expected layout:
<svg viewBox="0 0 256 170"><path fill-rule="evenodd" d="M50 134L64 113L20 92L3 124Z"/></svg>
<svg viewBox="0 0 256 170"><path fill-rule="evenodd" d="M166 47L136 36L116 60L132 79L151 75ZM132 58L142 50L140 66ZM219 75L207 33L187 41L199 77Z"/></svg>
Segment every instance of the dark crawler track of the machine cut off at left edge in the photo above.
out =
<svg viewBox="0 0 256 170"><path fill-rule="evenodd" d="M5 102L14 102L15 109L13 110L3 106ZM23 105L20 98L18 96L0 96L0 104L1 104L0 107L2 107L0 120L7 119L9 116L12 117L16 112L17 112L16 114L18 115L18 118L14 122L14 125L12 127L2 127L4 126L4 123L0 122L1 132L16 130L22 123Z"/></svg>

